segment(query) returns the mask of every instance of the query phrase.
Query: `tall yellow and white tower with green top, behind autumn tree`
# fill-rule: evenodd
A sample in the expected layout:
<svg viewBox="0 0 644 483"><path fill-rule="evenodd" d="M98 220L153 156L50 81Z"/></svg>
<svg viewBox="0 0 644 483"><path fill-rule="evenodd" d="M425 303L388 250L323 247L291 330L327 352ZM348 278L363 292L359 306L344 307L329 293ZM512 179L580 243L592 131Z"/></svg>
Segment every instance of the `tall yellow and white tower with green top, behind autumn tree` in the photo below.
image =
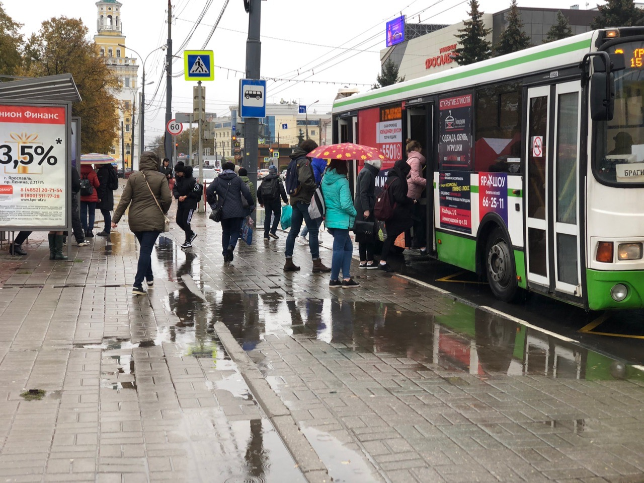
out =
<svg viewBox="0 0 644 483"><path fill-rule="evenodd" d="M125 152L126 169L132 168L134 158L134 141L138 142L134 136L134 129L138 123L135 123L137 92L137 59L128 57L126 49L121 45L126 45L125 35L123 35L123 24L121 22L121 6L117 0L99 0L97 6L96 28L98 34L94 35L94 42L99 46L100 55L104 57L106 64L113 70L120 81L120 90L114 93L119 101L118 138L112 144L109 155L117 159L118 166L121 166L123 160L122 153ZM123 136L121 136L120 126L123 126ZM121 139L124 141L121 143ZM124 148L124 149L123 149Z"/></svg>

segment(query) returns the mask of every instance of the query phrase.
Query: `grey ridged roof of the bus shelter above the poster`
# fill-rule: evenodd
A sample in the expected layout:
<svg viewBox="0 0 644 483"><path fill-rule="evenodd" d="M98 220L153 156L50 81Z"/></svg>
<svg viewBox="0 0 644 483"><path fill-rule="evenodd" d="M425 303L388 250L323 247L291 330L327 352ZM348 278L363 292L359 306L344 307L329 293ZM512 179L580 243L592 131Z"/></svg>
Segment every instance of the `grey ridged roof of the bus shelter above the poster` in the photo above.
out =
<svg viewBox="0 0 644 483"><path fill-rule="evenodd" d="M0 99L77 103L81 95L71 74L60 74L1 82Z"/></svg>

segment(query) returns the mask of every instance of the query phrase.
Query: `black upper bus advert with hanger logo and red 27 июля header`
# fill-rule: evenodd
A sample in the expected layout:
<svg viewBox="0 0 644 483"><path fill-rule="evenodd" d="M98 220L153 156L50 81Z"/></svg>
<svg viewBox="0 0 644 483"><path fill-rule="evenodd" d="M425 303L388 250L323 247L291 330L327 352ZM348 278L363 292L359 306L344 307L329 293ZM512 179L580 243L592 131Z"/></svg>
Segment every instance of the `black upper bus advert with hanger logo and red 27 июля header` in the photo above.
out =
<svg viewBox="0 0 644 483"><path fill-rule="evenodd" d="M472 94L439 100L439 168L471 170Z"/></svg>

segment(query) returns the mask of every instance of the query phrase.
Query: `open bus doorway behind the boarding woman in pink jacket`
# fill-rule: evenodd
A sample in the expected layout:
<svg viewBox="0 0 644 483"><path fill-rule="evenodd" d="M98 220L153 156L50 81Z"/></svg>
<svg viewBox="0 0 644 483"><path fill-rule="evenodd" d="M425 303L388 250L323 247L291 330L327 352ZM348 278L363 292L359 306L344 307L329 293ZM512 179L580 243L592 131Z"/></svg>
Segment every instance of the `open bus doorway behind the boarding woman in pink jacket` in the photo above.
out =
<svg viewBox="0 0 644 483"><path fill-rule="evenodd" d="M427 188L423 192L420 200L421 206L424 208L424 239L426 244L431 240L432 252L436 252L436 237L435 237L435 224L434 224L434 209L433 209L433 104L411 104L406 103L403 113L403 132L406 133L406 139L418 141L422 145L422 155L427 160L423 172L424 178L427 180ZM405 159L407 158L406 143L403 139L403 153ZM415 234L414 234L415 236Z"/></svg>

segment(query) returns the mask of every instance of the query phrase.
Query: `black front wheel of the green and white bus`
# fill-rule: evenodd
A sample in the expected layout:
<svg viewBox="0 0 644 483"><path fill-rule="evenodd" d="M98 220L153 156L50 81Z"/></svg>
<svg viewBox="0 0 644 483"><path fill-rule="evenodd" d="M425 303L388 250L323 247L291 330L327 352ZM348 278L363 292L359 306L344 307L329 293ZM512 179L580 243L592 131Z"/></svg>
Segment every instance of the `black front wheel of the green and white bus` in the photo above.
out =
<svg viewBox="0 0 644 483"><path fill-rule="evenodd" d="M500 228L495 228L488 237L484 265L489 288L500 301L515 301L518 293L515 262L510 244Z"/></svg>

